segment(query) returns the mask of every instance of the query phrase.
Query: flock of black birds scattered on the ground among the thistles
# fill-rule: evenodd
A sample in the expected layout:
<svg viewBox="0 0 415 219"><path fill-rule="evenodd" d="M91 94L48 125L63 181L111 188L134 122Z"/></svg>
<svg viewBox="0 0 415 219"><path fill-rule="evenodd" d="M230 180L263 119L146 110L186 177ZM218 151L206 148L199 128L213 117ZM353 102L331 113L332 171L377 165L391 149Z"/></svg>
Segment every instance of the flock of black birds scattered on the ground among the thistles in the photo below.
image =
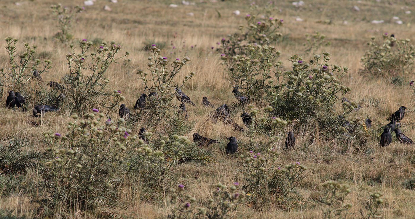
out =
<svg viewBox="0 0 415 219"><path fill-rule="evenodd" d="M39 73L37 72L37 70L34 70L33 77L36 78L36 79L41 80L41 77L40 77ZM59 84L58 82L54 82L54 81L48 82L47 85L49 85L53 89L59 89L61 91L64 89L61 86L61 84ZM181 102L181 104L179 106L178 115L182 115L184 119L187 119L188 118L188 113L187 113L187 110L186 110L185 103L189 103L193 106L195 106L195 103L193 103L190 100L190 97L187 96L186 94L184 94L183 91L180 88L177 87L174 90L176 91L176 98ZM233 89L232 93L234 94L235 98L237 99L237 101L240 104L247 103L248 97L242 95L242 93L237 88ZM17 107L17 108L22 108L22 110L24 112L27 111L27 108L24 105L25 99L22 96L22 94L20 94L20 92L8 91L8 94L9 95L6 98L6 107L7 108ZM61 94L60 96L63 96L63 98L64 98L63 94ZM145 108L147 99L149 99L150 97L157 97L157 96L158 96L158 94L156 92L151 92L148 95L144 94L144 93L141 94L139 99L137 99L137 101L134 105L134 109ZM342 102L346 101L346 102L351 103L346 98L342 98L341 100L342 100ZM149 101L151 101L151 100L149 100ZM204 96L203 99L202 99L202 106L215 108L215 106L207 100L206 96ZM355 110L359 110L360 108L361 108L361 106L358 105L357 108L355 108ZM402 143L405 143L405 144L413 144L414 143L412 140L410 140L410 138L408 138L406 135L404 135L402 133L402 131L399 129L400 121L405 116L405 109L406 109L405 106L401 106L401 107L399 107L398 111L396 111L391 116L389 116L388 120L390 120L390 123L385 125L385 127L383 129L383 133L381 135L381 139L380 139L380 145L381 146L388 146L388 144L390 144L392 142L392 135L391 135L392 131L395 132L396 138L398 139L399 142L402 142ZM45 112L58 111L58 110L59 110L59 108L53 107L53 106L35 105L33 107L32 113L33 113L34 117L38 117L39 113L41 115ZM124 103L121 104L118 113L119 113L121 118L125 118L125 119L128 119L131 116L130 110L125 106ZM241 117L242 117L242 121L243 121L243 123L246 127L249 127L252 124L252 118L249 115L249 113L242 113ZM240 132L245 131L244 128L242 128L240 125L235 123L234 120L229 118L229 107L227 106L227 104L222 104L222 106L220 106L220 107L216 108L214 111L210 112L209 118L214 120L215 123L217 122L217 120L221 120L224 125L232 127L233 130L235 130L235 131L240 131ZM344 127L350 126L350 123L347 120L345 120L343 118L343 116L338 116L338 118L339 118L339 121L340 121L342 126L344 126ZM372 126L371 122L372 121L370 120L370 118L367 118L365 120L365 125L366 125L367 128L370 128ZM144 132L146 132L145 128L141 128L140 132L139 132L139 138L144 140L145 143L148 143L148 139L143 134ZM295 144L294 133L290 131L290 132L287 132L286 134L287 134L287 137L286 137L286 141L285 141L285 146L286 146L286 148L291 148ZM228 137L227 139L229 140L229 142L226 146L226 153L227 154L234 154L238 149L237 139L233 136ZM198 133L193 134L193 141L197 142L197 144L200 145L200 146L207 146L209 144L220 143L219 140L213 140L213 139L210 139L208 137L203 137L203 136L200 136Z"/></svg>

